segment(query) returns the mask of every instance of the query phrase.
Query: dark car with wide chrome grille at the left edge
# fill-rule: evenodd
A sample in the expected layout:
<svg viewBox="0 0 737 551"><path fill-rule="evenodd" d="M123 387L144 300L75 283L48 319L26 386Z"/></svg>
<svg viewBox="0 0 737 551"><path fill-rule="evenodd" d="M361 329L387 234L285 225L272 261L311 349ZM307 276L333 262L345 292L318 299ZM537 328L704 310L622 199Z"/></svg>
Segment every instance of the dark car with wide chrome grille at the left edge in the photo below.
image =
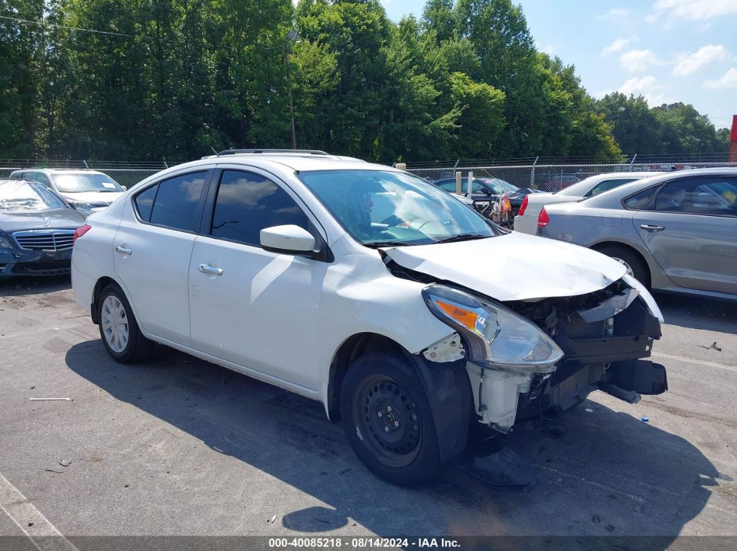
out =
<svg viewBox="0 0 737 551"><path fill-rule="evenodd" d="M0 277L69 274L85 216L38 182L0 179Z"/></svg>

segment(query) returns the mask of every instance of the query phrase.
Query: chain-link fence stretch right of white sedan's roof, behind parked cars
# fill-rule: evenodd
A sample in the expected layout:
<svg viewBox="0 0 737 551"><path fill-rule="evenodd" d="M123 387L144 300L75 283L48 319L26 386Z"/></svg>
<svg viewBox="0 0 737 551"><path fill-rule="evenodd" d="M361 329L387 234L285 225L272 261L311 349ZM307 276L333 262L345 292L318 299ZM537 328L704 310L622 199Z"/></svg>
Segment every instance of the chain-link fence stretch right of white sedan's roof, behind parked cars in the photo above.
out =
<svg viewBox="0 0 737 551"><path fill-rule="evenodd" d="M725 156L726 157L726 156ZM497 161L447 161L437 163L407 163L407 170L430 182L439 179L455 178L455 172L460 171L462 177L469 172L474 178L498 178L516 185L517 188L534 188L542 191L559 191L562 188L579 182L584 178L596 174L610 172L668 172L688 170L691 168L708 168L718 166L735 166L728 160L669 160L643 159L637 161L636 156L626 163L602 162L539 162L539 159L530 160L530 163L520 163L519 160Z"/></svg>

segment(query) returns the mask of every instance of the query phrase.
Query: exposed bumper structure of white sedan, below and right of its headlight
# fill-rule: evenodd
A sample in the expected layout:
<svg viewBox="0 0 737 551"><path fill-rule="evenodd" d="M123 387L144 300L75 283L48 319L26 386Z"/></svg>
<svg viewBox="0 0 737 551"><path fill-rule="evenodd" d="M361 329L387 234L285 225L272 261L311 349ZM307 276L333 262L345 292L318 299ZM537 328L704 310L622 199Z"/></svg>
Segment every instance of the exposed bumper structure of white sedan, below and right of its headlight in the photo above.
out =
<svg viewBox="0 0 737 551"><path fill-rule="evenodd" d="M515 422L567 410L595 390L630 403L638 402L640 394L668 390L666 369L642 359L660 338L660 321L645 298L638 296L624 310L605 316L595 321L585 321L578 313L563 317L553 340L565 357L553 373L504 372L468 362L479 420L507 433Z"/></svg>

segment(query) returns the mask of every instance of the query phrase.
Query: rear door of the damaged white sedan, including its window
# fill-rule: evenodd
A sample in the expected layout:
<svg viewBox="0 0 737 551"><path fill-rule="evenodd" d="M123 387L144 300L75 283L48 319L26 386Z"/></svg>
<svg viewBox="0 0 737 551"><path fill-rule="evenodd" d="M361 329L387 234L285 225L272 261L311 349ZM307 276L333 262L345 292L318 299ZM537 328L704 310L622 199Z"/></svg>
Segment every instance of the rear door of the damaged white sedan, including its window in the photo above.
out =
<svg viewBox="0 0 737 551"><path fill-rule="evenodd" d="M167 176L125 205L115 271L145 330L189 346L187 271L202 220L208 169Z"/></svg>

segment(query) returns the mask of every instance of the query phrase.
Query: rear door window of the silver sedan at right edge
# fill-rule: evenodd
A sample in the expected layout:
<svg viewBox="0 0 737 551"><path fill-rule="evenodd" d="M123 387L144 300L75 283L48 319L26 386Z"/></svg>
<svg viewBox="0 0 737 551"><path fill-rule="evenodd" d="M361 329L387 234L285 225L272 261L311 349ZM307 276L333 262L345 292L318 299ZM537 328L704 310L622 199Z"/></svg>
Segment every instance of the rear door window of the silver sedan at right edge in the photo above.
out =
<svg viewBox="0 0 737 551"><path fill-rule="evenodd" d="M736 215L737 178L701 177L668 182L655 197L654 210Z"/></svg>

